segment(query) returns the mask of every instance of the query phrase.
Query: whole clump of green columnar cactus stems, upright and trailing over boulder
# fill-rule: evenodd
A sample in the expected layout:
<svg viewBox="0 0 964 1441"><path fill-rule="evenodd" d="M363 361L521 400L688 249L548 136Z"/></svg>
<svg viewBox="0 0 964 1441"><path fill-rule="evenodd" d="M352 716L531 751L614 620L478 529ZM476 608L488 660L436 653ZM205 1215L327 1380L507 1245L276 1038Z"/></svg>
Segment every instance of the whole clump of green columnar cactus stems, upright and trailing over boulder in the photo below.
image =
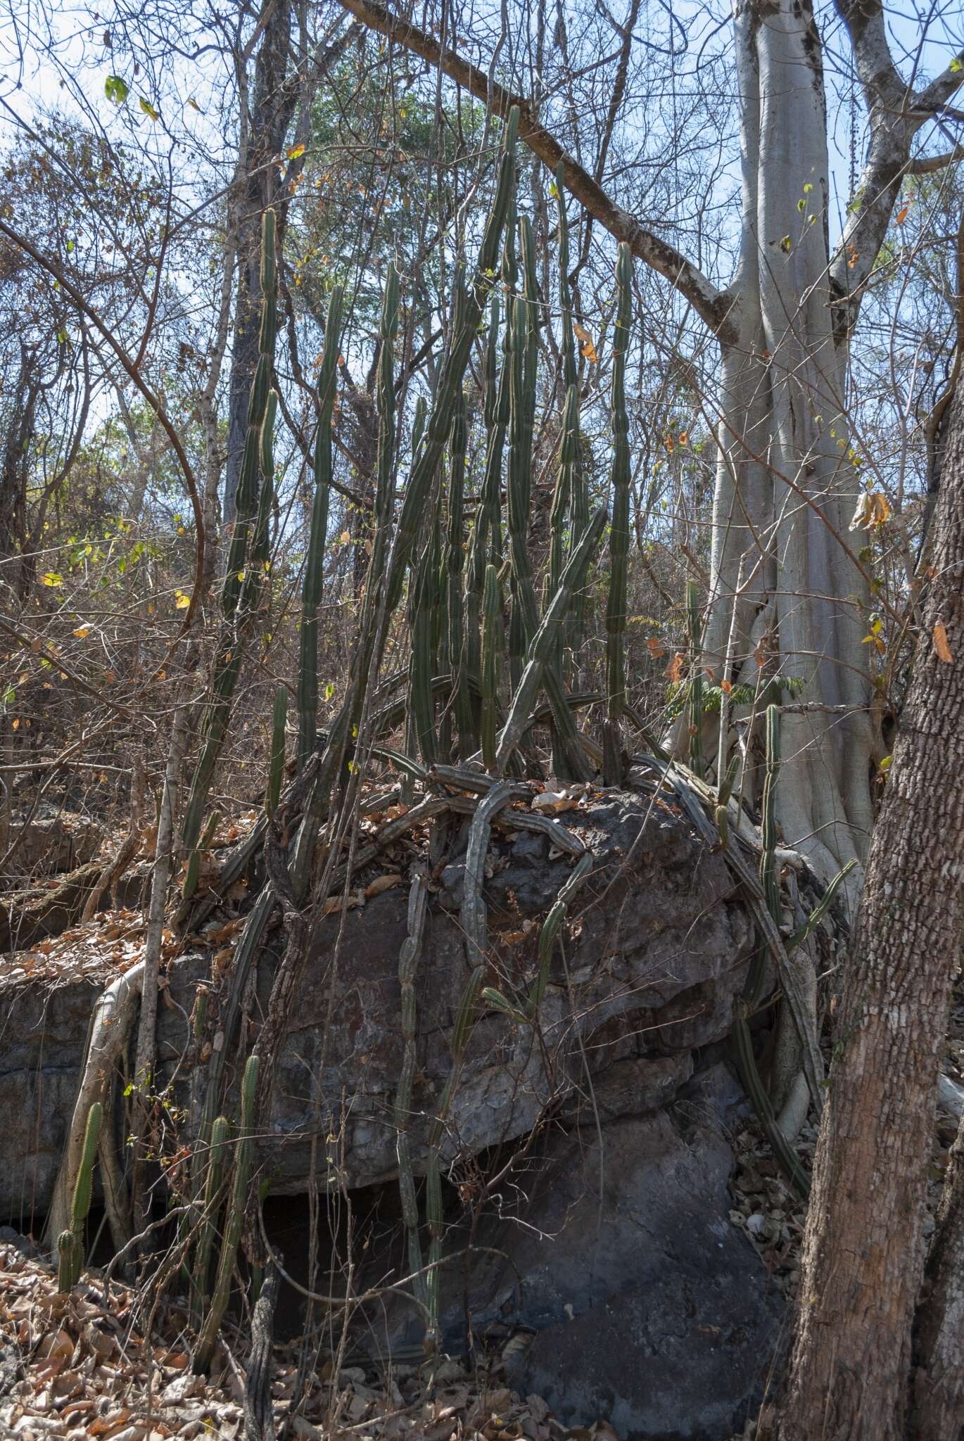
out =
<svg viewBox="0 0 964 1441"><path fill-rule="evenodd" d="M552 769L559 778L591 780L598 749L584 742L566 693L575 667L569 657L579 650L585 627L585 589L607 525L605 507L589 513L581 464L579 389L576 340L568 267L568 222L563 190L558 189L559 265L558 298L562 313L562 416L556 455L556 484L549 517L549 555L542 595L536 592L529 546L533 432L537 398L539 294L532 228L516 219L516 133L512 111L503 131L496 193L488 212L476 268L454 280L451 321L444 360L434 395L419 398L411 434L411 467L403 497L396 504L398 434L395 393L395 340L399 323L399 277L386 271L379 323L378 454L375 527L362 594L356 650L344 703L318 749L317 614L321 601L323 555L331 490L331 421L342 340L343 297L331 294L324 350L318 375L318 427L314 448L314 496L308 552L301 594L300 661L297 676L297 765L305 771L301 821L288 850L288 873L297 904L304 904L320 827L334 804L336 787L347 787L346 769L357 738L365 732L375 700L379 667L393 617L408 582L406 614L411 638L408 672L406 752L418 749L425 765L481 759L491 788L478 803L470 833L463 929L468 981L455 1022L452 1065L429 1125L425 1159L425 1223L428 1270L416 1295L429 1316L429 1342L438 1327L438 1261L442 1246L441 1143L458 1087L465 1046L483 1000L486 978L486 918L481 901L484 855L491 817L519 794L504 777L522 774L520 757L530 748L533 715L540 693L549 703ZM197 873L200 834L213 765L226 731L244 640L244 624L256 601L256 586L267 563L271 507L271 432L277 398L269 391L275 331L274 215L265 215L262 244L262 329L258 373L252 386L245 468L239 488L238 525L232 537L222 595L225 633L218 648L212 703L207 712L202 759L195 775L183 827L190 857L184 893ZM517 246L517 249L516 249ZM501 281L501 294L493 294ZM628 552L630 454L625 405L625 354L631 324L631 259L620 248L617 262L617 314L612 346L612 526L611 578L607 610L607 751L605 778L621 781L620 720L625 709L625 569ZM470 416L464 395L468 357L484 334L486 428L484 464L477 487L467 493ZM503 484L506 491L503 532ZM467 533L467 520L471 526ZM506 624L507 621L507 624ZM506 664L507 661L507 664ZM441 676L439 676L441 672ZM503 689L509 682L507 689ZM288 693L278 687L274 700L269 778L265 811L278 807L285 759ZM478 755L481 752L481 755ZM314 757L314 759L313 759ZM418 768L416 768L418 769ZM488 1003L519 1023L533 1023L549 981L549 965L559 927L576 888L591 869L584 856L546 918L539 945L539 967L529 996L519 1003L486 991ZM474 878L474 879L473 879ZM425 921L427 893L415 882L409 898L408 940L399 957L402 990L403 1065L395 1101L399 1187L408 1233L409 1264L424 1262L419 1241L418 1197L408 1138L412 1088L416 1072L415 974ZM241 980L256 954L272 908L269 886L258 898L235 953L238 994ZM232 1010L233 1006L233 1010ZM200 1159L193 1193L199 1213L192 1280L196 1288L195 1323L199 1331L196 1363L210 1359L223 1317L241 1235L242 1213L252 1164L254 1105L258 1062L248 1061L242 1084L241 1133L228 1185L229 1127L218 1111L223 1053L236 1025L236 1006L228 1001L219 1026L222 1050L210 1058L200 1124ZM215 1063L216 1062L216 1063ZM223 1208L223 1215L222 1215ZM222 1245L213 1281L215 1235L220 1218Z"/></svg>

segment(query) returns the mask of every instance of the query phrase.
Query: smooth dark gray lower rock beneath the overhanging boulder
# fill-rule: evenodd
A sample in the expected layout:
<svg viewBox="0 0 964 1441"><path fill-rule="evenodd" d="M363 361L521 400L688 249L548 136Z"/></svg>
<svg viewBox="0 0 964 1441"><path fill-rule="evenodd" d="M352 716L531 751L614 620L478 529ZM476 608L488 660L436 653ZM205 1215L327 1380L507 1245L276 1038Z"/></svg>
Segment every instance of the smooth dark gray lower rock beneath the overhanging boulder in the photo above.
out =
<svg viewBox="0 0 964 1441"><path fill-rule="evenodd" d="M670 1107L555 1128L481 1222L447 1231L458 1259L442 1271L445 1349L463 1350L467 1320L477 1340L514 1336L513 1389L543 1396L571 1427L605 1419L621 1441L742 1432L782 1316L758 1252L729 1221L726 1137L742 1105L718 1062ZM390 1297L365 1344L412 1355L422 1337L419 1311Z"/></svg>

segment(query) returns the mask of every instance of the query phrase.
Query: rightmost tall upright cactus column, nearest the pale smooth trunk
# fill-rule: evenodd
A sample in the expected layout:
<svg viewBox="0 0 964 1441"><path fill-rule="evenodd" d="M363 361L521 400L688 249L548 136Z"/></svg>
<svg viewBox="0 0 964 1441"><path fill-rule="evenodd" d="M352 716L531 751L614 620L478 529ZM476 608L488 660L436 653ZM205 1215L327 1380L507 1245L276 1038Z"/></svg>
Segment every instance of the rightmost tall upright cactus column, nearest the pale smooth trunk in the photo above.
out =
<svg viewBox="0 0 964 1441"><path fill-rule="evenodd" d="M617 308L612 333L612 525L610 598L605 611L607 719L602 769L607 785L622 784L620 720L625 709L625 563L630 550L630 418L625 409L625 352L633 318L633 259L620 245L615 262Z"/></svg>

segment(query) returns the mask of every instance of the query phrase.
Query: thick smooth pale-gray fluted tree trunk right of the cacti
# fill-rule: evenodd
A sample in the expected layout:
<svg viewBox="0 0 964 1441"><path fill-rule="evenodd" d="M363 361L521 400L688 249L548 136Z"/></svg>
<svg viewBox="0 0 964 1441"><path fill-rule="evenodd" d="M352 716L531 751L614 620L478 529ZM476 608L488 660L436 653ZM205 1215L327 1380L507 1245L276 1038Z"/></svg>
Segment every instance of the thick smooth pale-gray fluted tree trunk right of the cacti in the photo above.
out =
<svg viewBox="0 0 964 1441"><path fill-rule="evenodd" d="M723 346L708 663L722 673L742 568L736 667L726 679L757 683L754 653L769 634L768 679L790 682L803 700L866 708L866 588L837 539L859 484L837 444L846 354L833 333L820 36L810 6L793 0L738 0L733 23L744 222L732 287L738 337ZM784 839L830 880L866 857L867 712L843 725L837 718L833 729L826 718L787 713L781 752ZM854 872L852 899L857 888Z"/></svg>

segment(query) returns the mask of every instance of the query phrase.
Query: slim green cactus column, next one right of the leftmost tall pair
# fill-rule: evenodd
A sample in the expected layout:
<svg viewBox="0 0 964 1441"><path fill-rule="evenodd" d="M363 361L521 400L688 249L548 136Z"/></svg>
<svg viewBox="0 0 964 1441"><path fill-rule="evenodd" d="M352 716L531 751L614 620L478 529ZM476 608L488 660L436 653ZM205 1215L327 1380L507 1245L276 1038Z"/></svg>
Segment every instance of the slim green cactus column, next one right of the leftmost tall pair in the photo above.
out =
<svg viewBox="0 0 964 1441"><path fill-rule="evenodd" d="M318 372L318 428L314 438L314 497L308 553L301 584L301 633L298 637L298 769L314 751L318 725L318 605L324 582L324 542L331 496L331 416L342 346L343 291L336 287L329 301L324 349Z"/></svg>

